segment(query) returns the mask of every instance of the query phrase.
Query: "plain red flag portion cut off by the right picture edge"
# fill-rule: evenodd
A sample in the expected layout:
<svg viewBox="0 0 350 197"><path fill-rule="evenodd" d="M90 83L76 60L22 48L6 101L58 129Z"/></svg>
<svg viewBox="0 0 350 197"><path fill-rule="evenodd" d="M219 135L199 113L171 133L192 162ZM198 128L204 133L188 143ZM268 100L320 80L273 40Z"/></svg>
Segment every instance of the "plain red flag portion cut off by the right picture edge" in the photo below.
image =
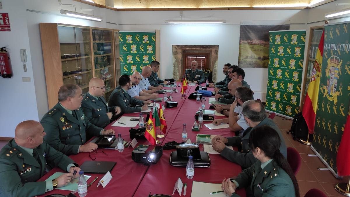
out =
<svg viewBox="0 0 350 197"><path fill-rule="evenodd" d="M350 110L348 111L348 117L346 118L345 128L340 141L340 145L337 153L337 170L339 176L350 175Z"/></svg>

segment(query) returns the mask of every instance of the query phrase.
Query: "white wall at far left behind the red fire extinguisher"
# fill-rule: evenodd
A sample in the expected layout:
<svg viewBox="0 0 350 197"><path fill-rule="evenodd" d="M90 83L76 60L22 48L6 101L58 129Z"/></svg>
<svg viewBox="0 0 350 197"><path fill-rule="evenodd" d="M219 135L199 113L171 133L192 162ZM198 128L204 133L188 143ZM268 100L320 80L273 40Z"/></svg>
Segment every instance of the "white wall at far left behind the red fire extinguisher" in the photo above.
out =
<svg viewBox="0 0 350 197"><path fill-rule="evenodd" d="M24 0L2 1L1 13L8 13L9 32L0 32L0 46L6 47L12 64L13 77L0 77L0 136L13 137L16 125L25 120L39 120L32 58L29 47L26 8ZM23 71L20 49L27 50L27 72ZM31 82L22 82L22 77L30 77Z"/></svg>

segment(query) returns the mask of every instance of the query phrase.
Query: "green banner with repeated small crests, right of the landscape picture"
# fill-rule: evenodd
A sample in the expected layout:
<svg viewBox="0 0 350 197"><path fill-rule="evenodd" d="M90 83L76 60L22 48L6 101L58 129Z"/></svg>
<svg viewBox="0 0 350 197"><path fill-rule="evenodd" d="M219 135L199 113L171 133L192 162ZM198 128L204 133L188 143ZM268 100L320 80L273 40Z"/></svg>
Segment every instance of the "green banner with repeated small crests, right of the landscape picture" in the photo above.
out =
<svg viewBox="0 0 350 197"><path fill-rule="evenodd" d="M299 113L305 30L269 32L265 109L293 118Z"/></svg>

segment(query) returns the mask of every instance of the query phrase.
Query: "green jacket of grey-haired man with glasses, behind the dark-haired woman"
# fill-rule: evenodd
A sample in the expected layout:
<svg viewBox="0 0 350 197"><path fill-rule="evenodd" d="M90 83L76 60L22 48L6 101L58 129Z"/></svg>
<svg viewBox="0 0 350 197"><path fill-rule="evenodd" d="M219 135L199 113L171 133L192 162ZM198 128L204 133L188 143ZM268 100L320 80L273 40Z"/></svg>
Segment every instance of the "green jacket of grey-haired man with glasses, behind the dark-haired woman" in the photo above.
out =
<svg viewBox="0 0 350 197"><path fill-rule="evenodd" d="M268 125L277 131L278 135L281 138L280 152L282 153L283 156L285 156L287 158L287 147L286 147L286 144L283 140L282 133L281 133L279 127L275 124L275 122L272 119L270 119L268 117L266 117L264 120L262 120L254 128L258 128L262 125ZM249 151L250 148L249 148L248 143L249 143L250 132L254 128L248 127L244 131L242 138L240 138L239 136L227 138L229 140L229 142L226 145L236 146L236 147L238 147L238 150L240 150L240 151L231 150L231 149L225 147L224 150L221 151L220 155L225 157L226 159L228 159L231 162L237 163L242 168L248 168L251 165L253 165L257 161L257 159L253 156L252 152Z"/></svg>

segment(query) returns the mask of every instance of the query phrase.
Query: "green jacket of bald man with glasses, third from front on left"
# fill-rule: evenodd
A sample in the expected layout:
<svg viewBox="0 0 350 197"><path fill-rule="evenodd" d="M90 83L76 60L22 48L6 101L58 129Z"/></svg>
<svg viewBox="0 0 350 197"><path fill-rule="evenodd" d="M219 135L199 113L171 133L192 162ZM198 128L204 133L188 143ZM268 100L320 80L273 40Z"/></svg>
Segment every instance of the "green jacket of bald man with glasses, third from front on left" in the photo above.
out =
<svg viewBox="0 0 350 197"><path fill-rule="evenodd" d="M108 107L103 96L97 100L91 94L86 93L82 101L82 109L92 124L104 128L110 123L107 113L111 111L114 114L116 107Z"/></svg>

